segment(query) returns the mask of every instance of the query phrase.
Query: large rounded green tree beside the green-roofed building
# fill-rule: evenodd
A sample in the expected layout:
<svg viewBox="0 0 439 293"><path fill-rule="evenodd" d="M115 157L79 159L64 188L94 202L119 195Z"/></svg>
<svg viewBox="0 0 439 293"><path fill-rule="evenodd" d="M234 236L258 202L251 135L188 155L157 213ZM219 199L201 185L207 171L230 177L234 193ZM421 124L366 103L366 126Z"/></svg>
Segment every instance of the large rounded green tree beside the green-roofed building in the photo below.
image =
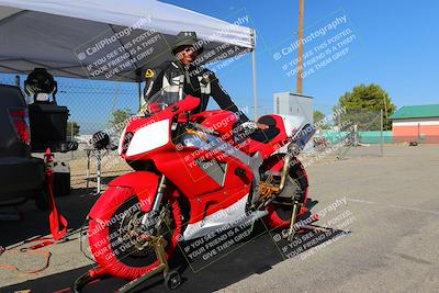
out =
<svg viewBox="0 0 439 293"><path fill-rule="evenodd" d="M383 128L391 129L390 115L396 106L392 103L389 93L379 84L360 84L340 97L336 108L344 108L346 113L340 115L341 124L348 120L357 124L359 129L380 129L380 111L383 110ZM335 109L336 109L335 108Z"/></svg>

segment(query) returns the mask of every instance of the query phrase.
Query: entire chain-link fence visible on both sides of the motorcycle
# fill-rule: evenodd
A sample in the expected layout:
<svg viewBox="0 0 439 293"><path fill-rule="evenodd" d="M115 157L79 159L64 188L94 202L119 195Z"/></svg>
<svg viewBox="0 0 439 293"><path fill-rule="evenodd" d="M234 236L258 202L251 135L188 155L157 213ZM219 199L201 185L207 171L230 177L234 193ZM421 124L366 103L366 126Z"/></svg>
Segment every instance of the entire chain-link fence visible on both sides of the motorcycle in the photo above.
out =
<svg viewBox="0 0 439 293"><path fill-rule="evenodd" d="M0 83L20 84L23 88L25 78L25 76L0 75ZM119 132L114 131L114 125L120 125L130 114L136 113L139 105L138 84L67 78L56 80L57 103L69 110L67 138L79 145L75 151L55 155L56 160L69 164L72 188L85 188L88 177L90 187L95 187L98 155L102 157L103 183L131 171L130 166L119 157L116 150L102 150L100 154L91 151L89 142L92 134L104 131L110 134L112 144L119 143ZM27 102L31 102L30 98ZM254 109L249 111L252 112ZM259 115L264 115L271 114L272 110L264 105L258 109L258 112ZM329 119L326 120L327 117ZM383 111L334 109L334 113L327 117L323 122L315 122L317 133L311 144L312 147L304 151L302 158L304 165L317 164L325 159L383 156L386 144L428 143L421 132L409 137L395 137L391 121L384 116Z"/></svg>

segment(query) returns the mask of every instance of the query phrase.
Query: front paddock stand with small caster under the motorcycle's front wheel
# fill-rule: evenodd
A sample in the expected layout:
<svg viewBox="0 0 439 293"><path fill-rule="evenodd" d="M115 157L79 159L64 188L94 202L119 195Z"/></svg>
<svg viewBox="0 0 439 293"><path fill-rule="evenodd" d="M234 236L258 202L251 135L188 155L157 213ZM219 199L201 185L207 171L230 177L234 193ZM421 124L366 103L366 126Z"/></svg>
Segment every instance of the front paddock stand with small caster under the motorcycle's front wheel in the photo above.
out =
<svg viewBox="0 0 439 293"><path fill-rule="evenodd" d="M180 273L175 270L170 270L168 261L166 259L166 252L165 252L166 240L164 239L164 237L162 236L148 236L148 237L149 237L150 241L154 244L154 250L156 252L156 256L157 256L157 259L159 262L158 267L155 270L150 271L149 273L144 274L137 279L134 279L130 283L117 289L115 292L117 292L117 293L132 292L137 286L139 286L143 282L145 282L146 280L150 279L151 277L154 277L160 272L164 273L165 285L168 289L173 290L173 289L177 289L181 284ZM98 267L95 269L88 271L87 273L82 274L81 277L79 277L75 281L71 290L75 293L80 293L80 292L82 292L82 289L87 284L89 284L98 279L104 279L104 278L109 278L109 275L105 272L105 269Z"/></svg>

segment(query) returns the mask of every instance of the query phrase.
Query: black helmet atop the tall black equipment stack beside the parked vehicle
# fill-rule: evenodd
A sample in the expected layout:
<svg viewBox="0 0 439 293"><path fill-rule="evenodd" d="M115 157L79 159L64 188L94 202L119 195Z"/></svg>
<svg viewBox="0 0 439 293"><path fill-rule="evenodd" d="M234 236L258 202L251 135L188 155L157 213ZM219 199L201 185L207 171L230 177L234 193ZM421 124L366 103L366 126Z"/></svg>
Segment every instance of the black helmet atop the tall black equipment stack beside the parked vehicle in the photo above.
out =
<svg viewBox="0 0 439 293"><path fill-rule="evenodd" d="M27 79L24 81L26 93L37 94L56 92L57 83L54 77L47 72L45 68L35 68L29 74Z"/></svg>

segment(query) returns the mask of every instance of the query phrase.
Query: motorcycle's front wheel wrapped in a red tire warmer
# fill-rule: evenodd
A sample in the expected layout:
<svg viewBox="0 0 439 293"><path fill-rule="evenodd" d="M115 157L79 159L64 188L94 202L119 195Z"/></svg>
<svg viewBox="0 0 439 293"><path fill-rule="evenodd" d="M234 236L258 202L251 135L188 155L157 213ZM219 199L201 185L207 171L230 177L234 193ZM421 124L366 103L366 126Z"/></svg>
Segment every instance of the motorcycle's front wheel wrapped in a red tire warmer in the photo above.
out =
<svg viewBox="0 0 439 293"><path fill-rule="evenodd" d="M145 212L140 210L139 201L130 188L110 188L100 199L103 204L101 214L94 215L89 222L89 245L91 252L101 268L116 278L136 279L155 270L157 260L154 245L147 240L146 234L157 235L155 221L142 228ZM101 198L102 198L101 196ZM178 245L181 234L181 211L176 199L170 199L162 205L165 223L159 233L166 240L166 258L169 260Z"/></svg>

